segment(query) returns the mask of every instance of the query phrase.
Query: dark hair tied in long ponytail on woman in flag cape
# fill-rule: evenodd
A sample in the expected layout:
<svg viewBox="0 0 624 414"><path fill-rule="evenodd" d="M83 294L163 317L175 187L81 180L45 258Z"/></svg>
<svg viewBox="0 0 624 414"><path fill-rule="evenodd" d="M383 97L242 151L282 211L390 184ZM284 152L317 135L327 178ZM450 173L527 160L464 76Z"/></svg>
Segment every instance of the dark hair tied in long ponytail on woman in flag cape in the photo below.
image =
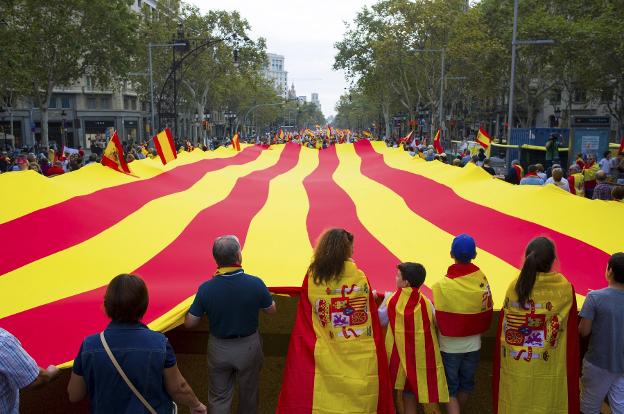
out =
<svg viewBox="0 0 624 414"><path fill-rule="evenodd" d="M549 272L555 257L555 244L546 237L536 237L528 244L524 264L515 286L518 302L522 307L526 306L531 297L537 273Z"/></svg>

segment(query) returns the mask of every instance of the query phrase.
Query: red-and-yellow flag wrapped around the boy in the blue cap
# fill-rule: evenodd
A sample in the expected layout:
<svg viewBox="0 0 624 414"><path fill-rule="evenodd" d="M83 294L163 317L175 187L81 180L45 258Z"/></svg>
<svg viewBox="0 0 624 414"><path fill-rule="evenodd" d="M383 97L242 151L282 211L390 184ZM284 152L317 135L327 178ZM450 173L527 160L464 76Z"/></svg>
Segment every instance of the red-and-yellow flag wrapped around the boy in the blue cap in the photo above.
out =
<svg viewBox="0 0 624 414"><path fill-rule="evenodd" d="M433 285L436 322L444 336L471 336L487 331L492 322L490 284L477 266L456 263Z"/></svg>

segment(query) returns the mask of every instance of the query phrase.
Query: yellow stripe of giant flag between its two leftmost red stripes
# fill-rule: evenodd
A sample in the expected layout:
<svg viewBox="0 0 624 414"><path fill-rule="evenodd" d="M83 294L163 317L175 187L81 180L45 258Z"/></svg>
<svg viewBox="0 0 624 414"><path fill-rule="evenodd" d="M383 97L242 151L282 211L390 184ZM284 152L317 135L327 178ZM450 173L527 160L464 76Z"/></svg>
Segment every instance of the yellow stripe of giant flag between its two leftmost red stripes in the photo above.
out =
<svg viewBox="0 0 624 414"><path fill-rule="evenodd" d="M140 267L175 240L202 209L226 198L239 177L275 165L282 149L263 151L250 163L206 173L190 189L152 200L97 236L4 274L0 291L6 300L0 301L0 318L104 286L111 275ZM111 246L115 246L114 257L93 254L110 251ZM71 282L66 275L69 268L79 269Z"/></svg>

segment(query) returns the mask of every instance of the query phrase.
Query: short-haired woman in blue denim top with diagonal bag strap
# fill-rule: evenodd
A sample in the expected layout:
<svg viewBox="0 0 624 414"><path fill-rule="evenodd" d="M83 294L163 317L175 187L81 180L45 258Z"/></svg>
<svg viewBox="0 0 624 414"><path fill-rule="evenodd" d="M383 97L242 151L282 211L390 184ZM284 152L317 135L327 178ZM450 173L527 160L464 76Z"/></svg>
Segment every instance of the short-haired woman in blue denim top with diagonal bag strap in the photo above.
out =
<svg viewBox="0 0 624 414"><path fill-rule="evenodd" d="M99 334L88 336L80 346L67 387L69 400L80 401L88 395L93 414L171 414L173 401L188 406L192 414L206 413L206 407L180 373L167 337L140 322L147 304L147 287L140 277L126 274L115 277L104 296L104 309L111 319L104 337L121 369L151 410L121 377Z"/></svg>

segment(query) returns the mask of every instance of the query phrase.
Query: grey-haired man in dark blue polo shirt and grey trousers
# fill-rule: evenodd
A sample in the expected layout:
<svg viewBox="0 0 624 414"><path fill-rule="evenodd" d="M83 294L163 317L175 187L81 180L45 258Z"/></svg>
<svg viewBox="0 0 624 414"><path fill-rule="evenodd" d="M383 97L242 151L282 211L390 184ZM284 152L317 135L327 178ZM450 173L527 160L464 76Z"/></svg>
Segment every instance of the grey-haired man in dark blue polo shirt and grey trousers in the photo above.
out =
<svg viewBox="0 0 624 414"><path fill-rule="evenodd" d="M198 289L184 326L199 325L208 316L208 408L211 414L230 412L234 378L239 383L239 413L258 412L258 379L262 344L258 311L276 312L275 302L262 279L241 268L241 247L236 236L215 240L212 255L218 270Z"/></svg>

